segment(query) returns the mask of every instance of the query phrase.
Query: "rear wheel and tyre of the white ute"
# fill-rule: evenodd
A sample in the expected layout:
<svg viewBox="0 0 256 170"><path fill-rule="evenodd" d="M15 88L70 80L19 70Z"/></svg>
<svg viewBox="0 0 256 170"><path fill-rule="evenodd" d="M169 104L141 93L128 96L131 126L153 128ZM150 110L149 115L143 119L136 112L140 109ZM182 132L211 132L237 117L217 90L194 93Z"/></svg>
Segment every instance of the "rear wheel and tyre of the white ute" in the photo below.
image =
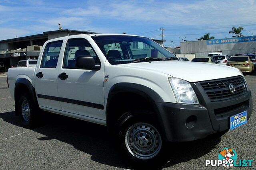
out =
<svg viewBox="0 0 256 170"><path fill-rule="evenodd" d="M34 104L28 94L20 96L18 109L20 120L24 127L32 128L38 125L40 109Z"/></svg>

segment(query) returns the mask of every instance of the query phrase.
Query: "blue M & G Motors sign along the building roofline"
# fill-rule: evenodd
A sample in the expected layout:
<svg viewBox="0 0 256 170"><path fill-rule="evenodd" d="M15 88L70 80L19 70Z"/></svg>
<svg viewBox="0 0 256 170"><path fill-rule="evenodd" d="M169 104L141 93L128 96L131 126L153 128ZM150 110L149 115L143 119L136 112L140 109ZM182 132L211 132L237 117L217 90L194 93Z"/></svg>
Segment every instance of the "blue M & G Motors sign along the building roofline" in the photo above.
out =
<svg viewBox="0 0 256 170"><path fill-rule="evenodd" d="M256 41L256 36L206 40L207 45Z"/></svg>

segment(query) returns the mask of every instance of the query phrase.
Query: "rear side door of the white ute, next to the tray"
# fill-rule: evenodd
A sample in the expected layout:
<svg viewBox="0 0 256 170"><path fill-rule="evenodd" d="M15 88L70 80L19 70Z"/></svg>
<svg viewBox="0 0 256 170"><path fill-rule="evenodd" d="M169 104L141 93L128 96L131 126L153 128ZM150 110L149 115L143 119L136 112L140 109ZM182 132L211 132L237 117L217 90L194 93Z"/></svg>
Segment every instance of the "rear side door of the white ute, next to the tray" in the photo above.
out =
<svg viewBox="0 0 256 170"><path fill-rule="evenodd" d="M57 78L58 58L63 41L48 43L43 51L41 61L36 67L34 82L38 104L42 109L61 110L58 102ZM63 55L63 54L62 54Z"/></svg>

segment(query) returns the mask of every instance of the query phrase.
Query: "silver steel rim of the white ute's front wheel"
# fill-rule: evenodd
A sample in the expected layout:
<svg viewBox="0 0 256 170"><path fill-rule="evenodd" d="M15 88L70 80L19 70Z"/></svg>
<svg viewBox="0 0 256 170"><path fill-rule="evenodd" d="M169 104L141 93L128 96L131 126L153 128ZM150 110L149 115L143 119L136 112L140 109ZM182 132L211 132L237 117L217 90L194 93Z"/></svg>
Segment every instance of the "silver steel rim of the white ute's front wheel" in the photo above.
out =
<svg viewBox="0 0 256 170"><path fill-rule="evenodd" d="M130 154L147 160L160 152L162 139L154 126L148 123L136 123L127 130L125 145Z"/></svg>

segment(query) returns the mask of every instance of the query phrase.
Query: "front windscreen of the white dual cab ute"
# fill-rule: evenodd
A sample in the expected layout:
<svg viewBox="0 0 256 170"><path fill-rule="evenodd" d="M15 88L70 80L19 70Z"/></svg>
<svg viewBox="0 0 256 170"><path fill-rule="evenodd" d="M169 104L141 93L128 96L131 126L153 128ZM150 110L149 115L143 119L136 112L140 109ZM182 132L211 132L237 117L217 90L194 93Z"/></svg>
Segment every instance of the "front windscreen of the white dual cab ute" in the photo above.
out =
<svg viewBox="0 0 256 170"><path fill-rule="evenodd" d="M175 57L156 42L145 37L100 35L92 37L110 64L132 63L136 59ZM159 61L159 60L158 60Z"/></svg>

